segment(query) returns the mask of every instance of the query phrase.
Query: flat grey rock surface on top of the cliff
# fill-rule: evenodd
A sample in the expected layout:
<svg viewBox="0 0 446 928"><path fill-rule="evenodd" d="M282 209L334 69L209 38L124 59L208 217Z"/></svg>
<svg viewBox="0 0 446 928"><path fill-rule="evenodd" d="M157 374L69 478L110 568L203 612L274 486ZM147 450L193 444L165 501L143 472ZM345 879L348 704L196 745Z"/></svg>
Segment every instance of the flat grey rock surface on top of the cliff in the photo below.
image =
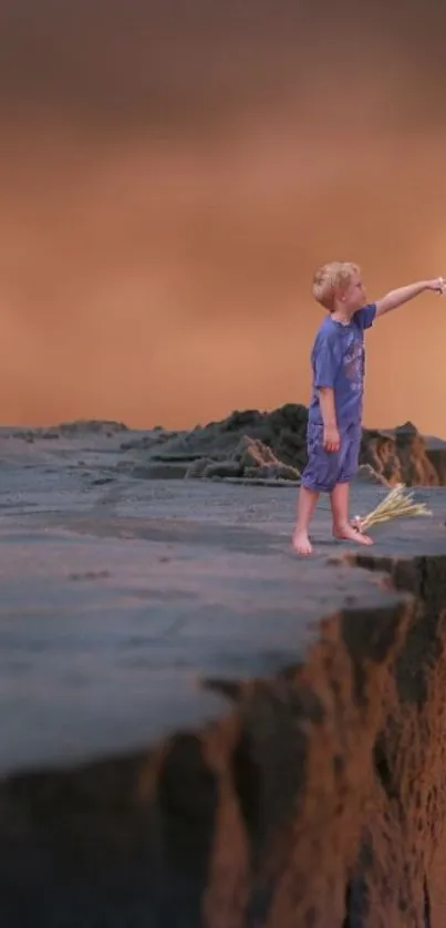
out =
<svg viewBox="0 0 446 928"><path fill-rule="evenodd" d="M325 501L315 555L290 548L297 491L148 482L115 472L122 436L0 436L0 771L146 747L220 715L207 678L247 679L303 659L320 620L395 598L329 560ZM51 447L49 447L51 445ZM353 487L352 514L385 491ZM376 556L446 554L446 489L433 517L375 530ZM367 554L371 549L367 549Z"/></svg>

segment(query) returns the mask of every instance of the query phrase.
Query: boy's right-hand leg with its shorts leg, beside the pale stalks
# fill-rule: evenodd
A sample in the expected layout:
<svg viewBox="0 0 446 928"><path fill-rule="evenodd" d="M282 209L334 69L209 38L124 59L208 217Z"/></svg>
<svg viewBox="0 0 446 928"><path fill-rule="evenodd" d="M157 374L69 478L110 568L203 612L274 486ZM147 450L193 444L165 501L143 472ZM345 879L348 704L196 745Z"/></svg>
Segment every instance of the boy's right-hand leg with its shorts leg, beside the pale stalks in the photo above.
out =
<svg viewBox="0 0 446 928"><path fill-rule="evenodd" d="M342 467L339 481L330 494L331 512L333 516L333 535L335 538L356 542L360 545L372 545L369 535L356 532L349 518L350 482L353 480L360 458L362 430L360 425L352 425L342 436L345 442L343 448Z"/></svg>

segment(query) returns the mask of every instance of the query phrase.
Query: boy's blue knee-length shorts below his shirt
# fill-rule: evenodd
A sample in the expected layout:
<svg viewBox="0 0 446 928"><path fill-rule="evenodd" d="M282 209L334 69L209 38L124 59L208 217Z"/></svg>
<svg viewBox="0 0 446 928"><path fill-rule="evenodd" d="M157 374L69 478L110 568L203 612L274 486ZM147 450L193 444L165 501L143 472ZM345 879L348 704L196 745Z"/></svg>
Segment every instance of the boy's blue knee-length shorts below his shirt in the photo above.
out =
<svg viewBox="0 0 446 928"><path fill-rule="evenodd" d="M331 493L338 483L350 483L360 461L362 427L359 424L340 429L339 451L325 451L323 425L309 422L307 430L308 463L302 473L302 486L314 493Z"/></svg>

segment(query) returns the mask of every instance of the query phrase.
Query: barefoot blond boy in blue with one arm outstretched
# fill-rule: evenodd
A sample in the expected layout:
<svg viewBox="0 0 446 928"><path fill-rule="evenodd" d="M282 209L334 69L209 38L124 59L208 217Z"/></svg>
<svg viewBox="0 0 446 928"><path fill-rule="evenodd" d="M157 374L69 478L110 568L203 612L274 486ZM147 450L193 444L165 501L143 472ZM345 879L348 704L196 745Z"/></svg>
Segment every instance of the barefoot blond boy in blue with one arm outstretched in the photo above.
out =
<svg viewBox="0 0 446 928"><path fill-rule="evenodd" d="M329 315L317 333L311 363L313 393L309 409L308 464L302 474L292 545L312 553L309 526L320 493L330 494L333 535L371 545L349 519L349 485L359 463L364 386L364 331L374 320L425 290L443 292L443 277L391 290L366 303L361 272L351 262L333 261L314 275L313 296Z"/></svg>

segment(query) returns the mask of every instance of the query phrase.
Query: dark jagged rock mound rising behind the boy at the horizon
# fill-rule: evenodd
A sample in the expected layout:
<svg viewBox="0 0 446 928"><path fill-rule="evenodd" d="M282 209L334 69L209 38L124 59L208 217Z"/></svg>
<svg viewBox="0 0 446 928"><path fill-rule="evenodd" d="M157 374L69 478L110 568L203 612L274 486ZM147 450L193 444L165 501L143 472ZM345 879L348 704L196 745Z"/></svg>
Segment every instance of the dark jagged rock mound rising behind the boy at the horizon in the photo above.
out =
<svg viewBox="0 0 446 928"><path fill-rule="evenodd" d="M190 432L154 430L128 439L123 462L134 476L298 483L307 463L305 406L288 403L271 412L232 412ZM143 461L141 460L143 457ZM412 422L394 430L364 429L357 480L388 486L446 484L446 442L429 448ZM144 472L144 473L143 473Z"/></svg>

